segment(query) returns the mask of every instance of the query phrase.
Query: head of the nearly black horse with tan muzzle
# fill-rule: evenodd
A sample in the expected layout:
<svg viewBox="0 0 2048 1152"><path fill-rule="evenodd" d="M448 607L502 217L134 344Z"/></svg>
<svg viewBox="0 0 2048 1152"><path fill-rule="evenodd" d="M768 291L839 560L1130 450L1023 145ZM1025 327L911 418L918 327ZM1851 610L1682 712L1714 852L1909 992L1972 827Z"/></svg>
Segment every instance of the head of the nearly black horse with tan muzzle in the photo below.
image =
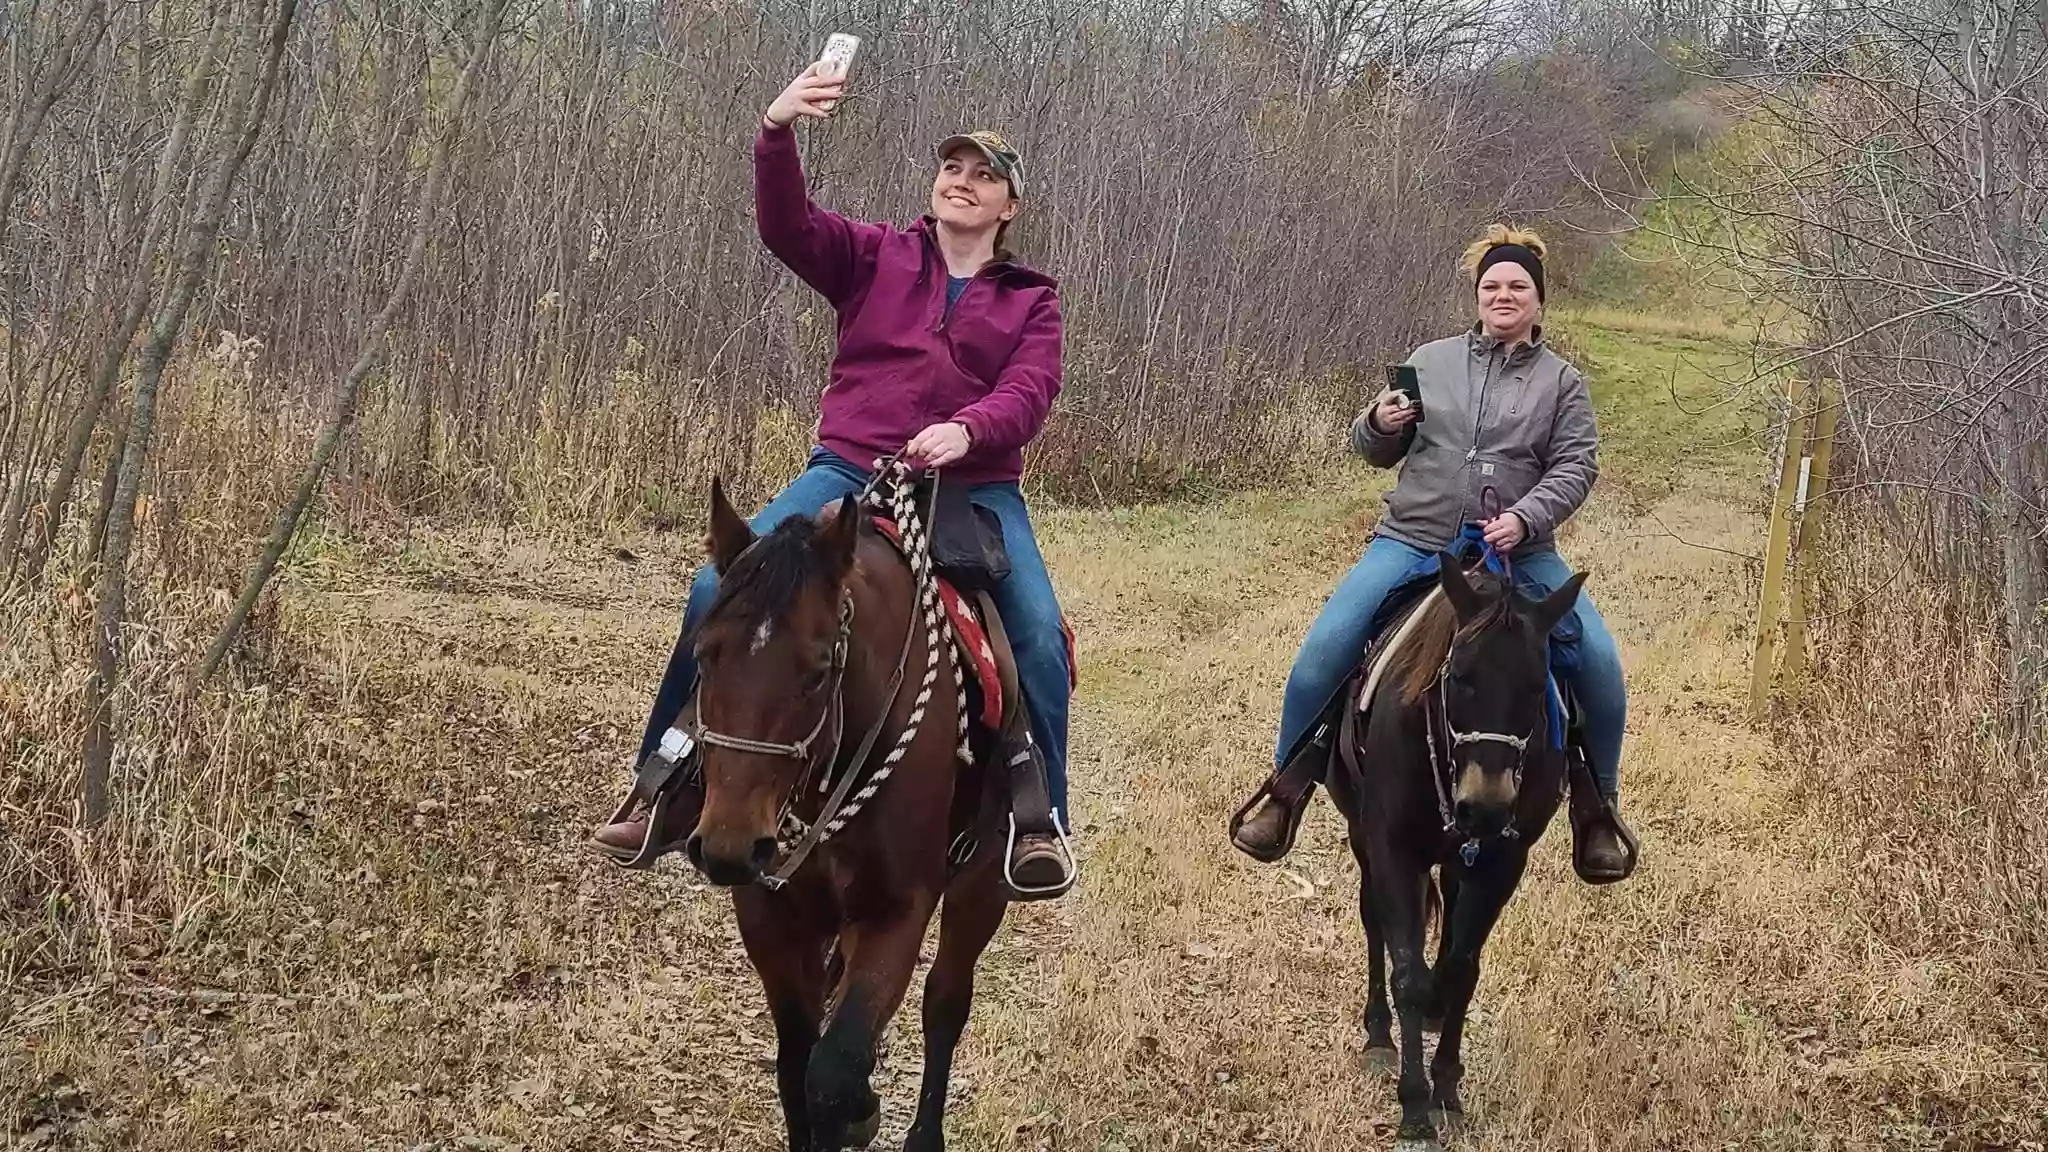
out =
<svg viewBox="0 0 2048 1152"><path fill-rule="evenodd" d="M1468 836L1493 836L1513 820L1524 756L1546 732L1546 640L1579 603L1585 572L1532 601L1507 580L1485 570L1466 576L1442 556L1438 582L1458 619L1442 681L1452 822Z"/></svg>

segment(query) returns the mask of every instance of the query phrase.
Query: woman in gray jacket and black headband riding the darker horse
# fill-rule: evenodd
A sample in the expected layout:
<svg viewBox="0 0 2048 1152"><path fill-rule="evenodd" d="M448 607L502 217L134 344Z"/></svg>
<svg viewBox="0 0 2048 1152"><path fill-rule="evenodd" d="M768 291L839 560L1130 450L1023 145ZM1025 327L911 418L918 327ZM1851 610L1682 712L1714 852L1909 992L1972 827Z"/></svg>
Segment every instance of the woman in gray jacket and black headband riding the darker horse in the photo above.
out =
<svg viewBox="0 0 2048 1152"><path fill-rule="evenodd" d="M1352 422L1352 447L1376 467L1399 463L1401 478L1370 545L1294 656L1268 804L1233 836L1255 859L1286 855L1298 808L1323 767L1317 746L1298 746L1358 666L1380 601L1417 562L1448 547L1464 523L1481 521L1487 543L1520 576L1550 588L1571 578L1552 541L1599 476L1599 439L1585 377L1542 340L1542 256L1534 232L1491 225L1460 264L1473 277L1479 322L1409 357L1421 385L1419 412L1399 392L1382 392ZM1503 504L1491 517L1481 506L1487 488ZM1577 855L1587 879L1622 879L1630 867L1618 808L1628 717L1622 660L1585 592L1575 613L1581 640L1573 691L1608 818L1575 826L1573 836L1585 840Z"/></svg>

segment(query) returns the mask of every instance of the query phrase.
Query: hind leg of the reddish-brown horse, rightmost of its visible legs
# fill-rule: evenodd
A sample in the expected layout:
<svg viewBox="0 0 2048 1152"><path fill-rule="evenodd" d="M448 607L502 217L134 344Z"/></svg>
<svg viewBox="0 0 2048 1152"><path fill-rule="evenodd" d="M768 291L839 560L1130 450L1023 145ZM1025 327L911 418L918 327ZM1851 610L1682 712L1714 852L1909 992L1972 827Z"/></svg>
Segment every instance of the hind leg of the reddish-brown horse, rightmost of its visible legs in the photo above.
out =
<svg viewBox="0 0 2048 1152"><path fill-rule="evenodd" d="M1004 922L1008 896L995 857L985 857L946 892L938 927L938 957L924 980L924 1086L918 1091L918 1121L903 1152L944 1152L946 1086L952 1080L952 1052L961 1043L975 1002L975 963Z"/></svg>

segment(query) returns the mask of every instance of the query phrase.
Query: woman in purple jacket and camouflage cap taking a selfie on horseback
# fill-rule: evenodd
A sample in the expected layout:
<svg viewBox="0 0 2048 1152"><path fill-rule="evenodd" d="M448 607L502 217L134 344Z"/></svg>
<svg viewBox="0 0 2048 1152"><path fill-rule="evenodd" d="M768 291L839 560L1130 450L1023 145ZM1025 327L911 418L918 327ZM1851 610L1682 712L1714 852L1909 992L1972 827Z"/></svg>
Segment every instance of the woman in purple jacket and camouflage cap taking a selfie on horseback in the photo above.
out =
<svg viewBox="0 0 2048 1152"><path fill-rule="evenodd" d="M811 201L797 156L799 117L825 117L844 82L813 64L762 115L754 139L754 215L762 240L831 303L840 322L817 447L801 476L754 517L758 533L815 515L858 492L868 467L905 451L942 467L969 500L995 512L1010 576L993 599L1016 650L1032 742L1044 756L1053 814L1067 824L1067 646L1059 601L1032 537L1018 478L1024 445L1044 426L1061 387L1059 293L1051 277L1020 264L1004 234L1020 209L1020 158L999 135L952 135L938 146L932 211L907 228L848 219ZM717 572L690 588L682 633L711 607ZM639 760L662 748L696 689L696 660L678 635ZM670 736L670 748L676 738ZM686 752L694 756L694 752ZM682 847L696 824L694 771L657 830L662 851ZM680 801L680 804L678 804ZM635 857L645 816L606 824L592 838L614 857ZM1071 861L1049 834L1020 836L1012 865L1020 881L1065 890Z"/></svg>

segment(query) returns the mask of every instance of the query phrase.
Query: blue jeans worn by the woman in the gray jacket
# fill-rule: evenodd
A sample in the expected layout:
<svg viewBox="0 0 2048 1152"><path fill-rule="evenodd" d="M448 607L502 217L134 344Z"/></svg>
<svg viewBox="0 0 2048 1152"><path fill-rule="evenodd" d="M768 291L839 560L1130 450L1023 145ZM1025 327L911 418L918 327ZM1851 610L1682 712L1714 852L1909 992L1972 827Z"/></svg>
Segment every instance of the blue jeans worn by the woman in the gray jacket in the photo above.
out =
<svg viewBox="0 0 2048 1152"><path fill-rule="evenodd" d="M1323 715L1329 697L1358 668L1380 601L1427 556L1382 535L1372 537L1372 543L1366 545L1366 553L1331 592L1294 656L1294 670L1288 672L1286 697L1280 705L1280 742L1274 748L1274 763L1284 763L1307 736L1309 726ZM1571 578L1565 560L1550 549L1516 558L1513 566L1518 576L1528 576L1550 588ZM1579 592L1579 605L1573 611L1579 617L1579 668L1571 676L1571 687L1585 715L1585 754L1599 791L1614 795L1622 787L1622 732L1628 726L1622 654L1589 594Z"/></svg>

